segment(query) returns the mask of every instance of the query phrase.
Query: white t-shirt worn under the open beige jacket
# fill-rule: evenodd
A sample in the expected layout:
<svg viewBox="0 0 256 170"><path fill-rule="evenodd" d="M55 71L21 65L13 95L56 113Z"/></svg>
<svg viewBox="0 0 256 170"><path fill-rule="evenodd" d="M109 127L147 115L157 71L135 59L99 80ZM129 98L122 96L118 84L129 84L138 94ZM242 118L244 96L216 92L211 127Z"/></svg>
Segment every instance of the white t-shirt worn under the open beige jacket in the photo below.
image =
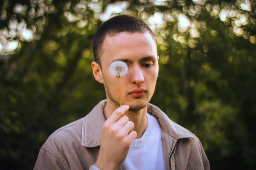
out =
<svg viewBox="0 0 256 170"><path fill-rule="evenodd" d="M134 139L122 170L164 169L161 126L158 120L147 113L148 125L140 139Z"/></svg>

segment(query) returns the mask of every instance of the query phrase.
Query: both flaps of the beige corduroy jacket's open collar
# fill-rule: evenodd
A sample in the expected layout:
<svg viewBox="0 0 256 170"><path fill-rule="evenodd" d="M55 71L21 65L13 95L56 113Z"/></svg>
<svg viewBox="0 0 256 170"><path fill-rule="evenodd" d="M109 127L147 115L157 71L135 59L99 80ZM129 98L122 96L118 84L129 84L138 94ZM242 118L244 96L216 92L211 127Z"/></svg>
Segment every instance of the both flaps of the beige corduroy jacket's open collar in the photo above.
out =
<svg viewBox="0 0 256 170"><path fill-rule="evenodd" d="M82 127L82 146L97 147L100 145L100 135L104 122L103 107L107 100L102 100L93 110L85 116ZM178 140L180 138L194 137L182 126L170 120L157 106L148 104L147 113L158 119L162 129L171 137Z"/></svg>

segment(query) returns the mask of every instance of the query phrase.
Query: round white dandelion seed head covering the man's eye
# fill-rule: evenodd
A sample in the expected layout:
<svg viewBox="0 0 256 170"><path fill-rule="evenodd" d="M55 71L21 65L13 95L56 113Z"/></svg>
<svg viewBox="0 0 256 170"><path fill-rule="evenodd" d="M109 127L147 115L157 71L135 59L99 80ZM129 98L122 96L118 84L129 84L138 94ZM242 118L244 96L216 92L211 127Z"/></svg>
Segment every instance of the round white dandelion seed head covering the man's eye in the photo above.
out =
<svg viewBox="0 0 256 170"><path fill-rule="evenodd" d="M110 64L109 71L115 77L122 77L128 73L128 66L123 61L114 61Z"/></svg>

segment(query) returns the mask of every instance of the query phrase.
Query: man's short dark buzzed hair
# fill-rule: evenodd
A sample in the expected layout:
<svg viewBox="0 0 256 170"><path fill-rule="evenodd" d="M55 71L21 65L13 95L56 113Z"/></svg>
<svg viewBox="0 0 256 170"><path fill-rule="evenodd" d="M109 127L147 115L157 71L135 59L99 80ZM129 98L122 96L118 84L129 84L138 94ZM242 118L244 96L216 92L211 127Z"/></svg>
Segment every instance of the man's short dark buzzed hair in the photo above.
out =
<svg viewBox="0 0 256 170"><path fill-rule="evenodd" d="M95 62L101 66L100 53L102 44L107 35L114 36L121 32L128 33L146 33L148 32L153 40L155 36L153 31L146 25L146 23L136 17L130 15L117 15L101 24L96 34L93 37L93 52Z"/></svg>

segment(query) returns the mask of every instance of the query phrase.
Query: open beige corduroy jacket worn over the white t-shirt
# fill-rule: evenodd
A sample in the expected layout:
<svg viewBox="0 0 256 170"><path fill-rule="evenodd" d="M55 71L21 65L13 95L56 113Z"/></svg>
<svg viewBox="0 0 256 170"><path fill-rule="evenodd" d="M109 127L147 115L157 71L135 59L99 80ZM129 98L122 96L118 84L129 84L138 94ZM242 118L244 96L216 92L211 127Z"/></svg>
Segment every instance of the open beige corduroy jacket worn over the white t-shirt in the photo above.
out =
<svg viewBox="0 0 256 170"><path fill-rule="evenodd" d="M102 109L105 104L106 100L101 101L84 118L56 130L40 149L34 169L92 169L106 121ZM194 134L170 120L154 105L148 104L147 112L156 117L162 127L166 170L210 170L207 156Z"/></svg>

